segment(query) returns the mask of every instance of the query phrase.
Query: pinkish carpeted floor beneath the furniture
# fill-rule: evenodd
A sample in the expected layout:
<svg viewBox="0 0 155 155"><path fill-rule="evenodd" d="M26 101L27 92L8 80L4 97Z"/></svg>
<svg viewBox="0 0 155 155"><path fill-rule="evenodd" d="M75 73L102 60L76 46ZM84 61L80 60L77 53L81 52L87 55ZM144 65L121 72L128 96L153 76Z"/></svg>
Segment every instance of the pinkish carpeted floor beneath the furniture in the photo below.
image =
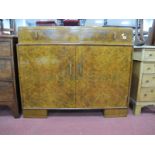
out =
<svg viewBox="0 0 155 155"><path fill-rule="evenodd" d="M155 134L155 113L143 109L140 116L104 118L101 111L50 111L46 119L14 119L0 108L1 135L128 135Z"/></svg>

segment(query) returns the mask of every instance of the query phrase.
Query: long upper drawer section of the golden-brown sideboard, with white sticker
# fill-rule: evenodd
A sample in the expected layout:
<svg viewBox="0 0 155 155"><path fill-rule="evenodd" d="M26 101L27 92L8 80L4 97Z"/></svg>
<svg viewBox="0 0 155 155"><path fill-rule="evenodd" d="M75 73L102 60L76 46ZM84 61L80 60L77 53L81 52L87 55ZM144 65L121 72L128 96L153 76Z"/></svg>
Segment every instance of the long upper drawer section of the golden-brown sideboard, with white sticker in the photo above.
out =
<svg viewBox="0 0 155 155"><path fill-rule="evenodd" d="M19 44L77 43L132 45L132 29L120 27L20 27Z"/></svg>

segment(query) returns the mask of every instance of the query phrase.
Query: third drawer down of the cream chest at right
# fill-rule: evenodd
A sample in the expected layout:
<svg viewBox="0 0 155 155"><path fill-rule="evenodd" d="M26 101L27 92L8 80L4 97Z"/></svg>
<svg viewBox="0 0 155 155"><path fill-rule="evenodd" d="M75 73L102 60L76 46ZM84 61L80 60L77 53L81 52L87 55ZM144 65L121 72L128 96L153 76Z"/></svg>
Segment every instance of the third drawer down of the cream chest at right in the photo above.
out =
<svg viewBox="0 0 155 155"><path fill-rule="evenodd" d="M155 87L155 74L143 74L142 87Z"/></svg>

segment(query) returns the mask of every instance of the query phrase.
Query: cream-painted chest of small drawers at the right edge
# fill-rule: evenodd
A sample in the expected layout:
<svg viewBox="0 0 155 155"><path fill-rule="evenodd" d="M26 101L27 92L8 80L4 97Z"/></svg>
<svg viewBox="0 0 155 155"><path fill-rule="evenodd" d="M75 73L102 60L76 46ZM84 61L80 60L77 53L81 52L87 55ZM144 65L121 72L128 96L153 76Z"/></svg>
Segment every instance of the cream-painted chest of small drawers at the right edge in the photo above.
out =
<svg viewBox="0 0 155 155"><path fill-rule="evenodd" d="M155 47L135 47L133 59L131 103L139 115L142 107L155 105Z"/></svg>

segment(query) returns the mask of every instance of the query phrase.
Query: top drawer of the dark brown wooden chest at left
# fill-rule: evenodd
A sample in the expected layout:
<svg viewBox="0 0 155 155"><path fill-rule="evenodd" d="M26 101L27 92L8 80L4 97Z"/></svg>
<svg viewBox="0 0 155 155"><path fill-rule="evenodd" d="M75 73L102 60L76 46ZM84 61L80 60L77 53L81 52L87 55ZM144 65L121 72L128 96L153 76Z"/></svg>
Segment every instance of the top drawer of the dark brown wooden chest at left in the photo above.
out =
<svg viewBox="0 0 155 155"><path fill-rule="evenodd" d="M0 42L0 57L11 56L11 42Z"/></svg>

